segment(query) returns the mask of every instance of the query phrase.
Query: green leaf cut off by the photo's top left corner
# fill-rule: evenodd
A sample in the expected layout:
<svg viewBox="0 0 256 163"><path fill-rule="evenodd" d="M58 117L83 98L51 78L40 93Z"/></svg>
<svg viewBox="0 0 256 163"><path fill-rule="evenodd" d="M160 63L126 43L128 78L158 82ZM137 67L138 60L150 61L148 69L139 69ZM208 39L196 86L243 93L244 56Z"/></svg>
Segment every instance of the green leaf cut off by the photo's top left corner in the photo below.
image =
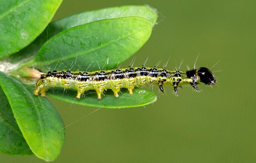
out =
<svg viewBox="0 0 256 163"><path fill-rule="evenodd" d="M0 5L0 59L32 42L53 18L62 0L5 0Z"/></svg>

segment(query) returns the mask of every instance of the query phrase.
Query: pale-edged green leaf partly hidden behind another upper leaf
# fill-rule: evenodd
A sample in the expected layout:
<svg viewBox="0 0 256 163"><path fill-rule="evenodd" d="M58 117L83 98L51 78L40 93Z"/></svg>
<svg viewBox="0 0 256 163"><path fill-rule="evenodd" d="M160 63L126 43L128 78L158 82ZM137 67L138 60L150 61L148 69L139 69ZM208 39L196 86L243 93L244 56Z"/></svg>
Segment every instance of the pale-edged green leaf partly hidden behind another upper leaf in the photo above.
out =
<svg viewBox="0 0 256 163"><path fill-rule="evenodd" d="M157 21L156 11L149 6L119 6L71 15L50 23L48 27L41 33L41 35L39 35L29 46L15 53L14 55L11 55L10 62L18 62L24 58L26 58L26 60L31 59L31 56L36 55L41 46L47 40L68 28L102 19L122 18L128 16L145 18L149 20L153 26Z"/></svg>

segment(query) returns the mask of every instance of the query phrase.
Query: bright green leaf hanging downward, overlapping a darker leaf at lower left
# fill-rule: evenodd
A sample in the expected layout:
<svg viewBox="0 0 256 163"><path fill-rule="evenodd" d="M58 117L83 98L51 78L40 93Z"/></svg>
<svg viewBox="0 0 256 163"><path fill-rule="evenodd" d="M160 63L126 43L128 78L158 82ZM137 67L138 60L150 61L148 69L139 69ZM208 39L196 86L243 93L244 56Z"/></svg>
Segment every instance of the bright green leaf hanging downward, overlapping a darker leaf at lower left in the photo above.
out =
<svg viewBox="0 0 256 163"><path fill-rule="evenodd" d="M3 89L16 122L31 151L45 161L55 160L65 139L63 121L46 99L0 72Z"/></svg>

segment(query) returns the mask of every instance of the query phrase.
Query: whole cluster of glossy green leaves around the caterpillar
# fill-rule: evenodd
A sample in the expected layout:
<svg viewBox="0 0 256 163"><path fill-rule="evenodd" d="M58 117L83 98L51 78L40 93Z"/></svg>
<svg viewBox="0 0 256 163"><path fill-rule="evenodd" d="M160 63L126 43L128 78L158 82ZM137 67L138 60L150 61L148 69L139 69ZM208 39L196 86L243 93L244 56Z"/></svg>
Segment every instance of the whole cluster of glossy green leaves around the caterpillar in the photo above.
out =
<svg viewBox="0 0 256 163"><path fill-rule="evenodd" d="M64 123L27 82L49 70L115 68L146 43L157 14L148 6L120 6L50 23L62 0L15 2L0 5L0 152L54 161L65 139ZM101 100L93 91L75 100L74 90L57 88L47 95L103 108L144 106L156 100L150 91L136 91L132 96L122 91L118 98L107 91Z"/></svg>

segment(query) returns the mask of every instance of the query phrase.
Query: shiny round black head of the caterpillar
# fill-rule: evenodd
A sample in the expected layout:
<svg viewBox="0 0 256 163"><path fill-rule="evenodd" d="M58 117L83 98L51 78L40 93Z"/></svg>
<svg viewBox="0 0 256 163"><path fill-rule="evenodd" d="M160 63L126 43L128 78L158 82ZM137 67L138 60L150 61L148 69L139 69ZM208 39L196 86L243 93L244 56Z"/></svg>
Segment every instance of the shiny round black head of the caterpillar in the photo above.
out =
<svg viewBox="0 0 256 163"><path fill-rule="evenodd" d="M206 67L198 68L197 75L199 76L200 81L206 85L214 85L216 83L213 73Z"/></svg>

